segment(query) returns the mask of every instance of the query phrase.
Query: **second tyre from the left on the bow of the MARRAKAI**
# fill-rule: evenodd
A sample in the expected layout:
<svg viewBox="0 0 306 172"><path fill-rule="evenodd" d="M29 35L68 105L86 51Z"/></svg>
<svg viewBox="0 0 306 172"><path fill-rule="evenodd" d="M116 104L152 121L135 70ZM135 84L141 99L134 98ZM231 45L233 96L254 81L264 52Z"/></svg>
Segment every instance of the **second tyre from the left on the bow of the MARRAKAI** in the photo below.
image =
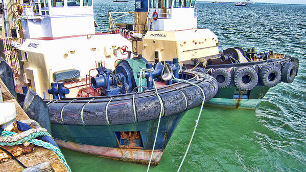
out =
<svg viewBox="0 0 306 172"><path fill-rule="evenodd" d="M258 76L253 68L240 68L234 74L234 83L241 91L252 90L257 82Z"/></svg>

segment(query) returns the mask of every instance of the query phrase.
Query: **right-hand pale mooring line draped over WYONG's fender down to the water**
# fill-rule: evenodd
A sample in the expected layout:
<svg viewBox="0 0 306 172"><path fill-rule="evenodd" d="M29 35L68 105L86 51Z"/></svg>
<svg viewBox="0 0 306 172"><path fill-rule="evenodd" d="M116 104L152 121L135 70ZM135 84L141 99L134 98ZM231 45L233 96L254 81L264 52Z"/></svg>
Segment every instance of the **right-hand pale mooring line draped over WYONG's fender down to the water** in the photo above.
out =
<svg viewBox="0 0 306 172"><path fill-rule="evenodd" d="M182 159L182 161L181 161L180 166L179 166L178 169L177 169L177 172L178 172L178 171L181 169L182 165L183 165L183 162L184 162L184 160L185 160L185 158L186 158L186 155L187 155L187 153L188 153L188 151L189 151L191 142L192 142L192 140L193 140L193 138L194 138L194 136L195 136L195 133L196 133L196 130L197 130L197 126L198 126L198 123L199 123L199 119L200 119L201 114L202 114L203 105L204 105L204 102L205 102L205 94L204 94L203 89L202 89L199 85L197 85L197 84L195 84L195 83L192 83L192 82L189 82L189 81L184 80L184 79L175 78L173 74L172 74L172 77L173 77L174 80L187 82L187 83L189 83L189 84L191 84L191 85L194 85L194 86L198 87L198 88L201 90L202 94L203 94L203 101L202 101L202 105L201 105L201 110L200 110L200 112L199 112L198 119L196 120L195 128L194 128L194 131L193 131L193 133L192 133L192 136L191 136L191 139L190 139L190 141L189 141L189 144L188 144L188 146L187 146L187 149L186 149L186 152L185 152L185 154L184 154L184 157L183 157L183 159Z"/></svg>

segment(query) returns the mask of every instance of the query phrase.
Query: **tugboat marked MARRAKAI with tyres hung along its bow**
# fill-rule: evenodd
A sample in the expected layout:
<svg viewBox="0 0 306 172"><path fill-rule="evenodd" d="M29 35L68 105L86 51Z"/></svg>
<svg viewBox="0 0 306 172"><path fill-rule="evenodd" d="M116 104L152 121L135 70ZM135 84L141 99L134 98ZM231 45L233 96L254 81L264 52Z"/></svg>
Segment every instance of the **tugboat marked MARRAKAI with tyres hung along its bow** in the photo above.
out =
<svg viewBox="0 0 306 172"><path fill-rule="evenodd" d="M184 69L215 76L219 92L207 104L255 109L271 87L294 80L298 58L239 47L219 52L217 35L197 28L196 1L171 2L135 1L135 11L128 12L134 24L116 24L112 15L118 13L109 12L109 31L130 40L132 52L150 62L178 57Z"/></svg>

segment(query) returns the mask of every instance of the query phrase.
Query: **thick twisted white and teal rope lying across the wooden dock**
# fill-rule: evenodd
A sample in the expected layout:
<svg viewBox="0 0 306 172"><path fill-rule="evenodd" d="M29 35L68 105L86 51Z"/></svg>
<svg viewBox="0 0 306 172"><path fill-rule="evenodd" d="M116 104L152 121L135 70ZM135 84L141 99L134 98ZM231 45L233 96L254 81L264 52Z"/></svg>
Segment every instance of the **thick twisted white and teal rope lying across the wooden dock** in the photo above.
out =
<svg viewBox="0 0 306 172"><path fill-rule="evenodd" d="M32 122L32 123L35 123L35 122ZM52 136L48 132L46 132L45 128L41 128L41 127L32 128L30 130L27 130L21 133L3 131L0 135L0 146L13 146L13 145L18 145L18 144L23 144L27 141L37 146L42 146L44 148L47 148L55 152L57 156L61 159L63 164L66 166L66 168L71 172L71 169L68 166L65 160L65 157L61 153L61 150L58 147L50 143L44 142L42 140L34 139L39 136L49 136L52 138Z"/></svg>

